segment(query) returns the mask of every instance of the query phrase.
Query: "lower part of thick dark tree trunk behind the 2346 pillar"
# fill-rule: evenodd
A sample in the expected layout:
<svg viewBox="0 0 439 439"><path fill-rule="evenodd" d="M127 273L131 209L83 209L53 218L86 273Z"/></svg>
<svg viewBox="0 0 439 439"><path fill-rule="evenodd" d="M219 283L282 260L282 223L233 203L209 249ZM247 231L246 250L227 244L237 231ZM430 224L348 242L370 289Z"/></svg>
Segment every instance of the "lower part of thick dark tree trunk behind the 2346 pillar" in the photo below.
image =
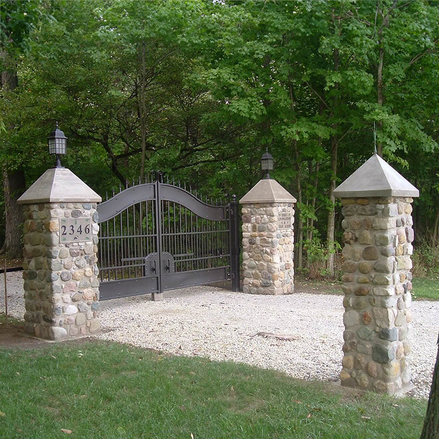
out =
<svg viewBox="0 0 439 439"><path fill-rule="evenodd" d="M23 217L17 199L24 192L25 180L22 169L15 171L3 170L5 239L1 253L10 258L21 258L21 224Z"/></svg>

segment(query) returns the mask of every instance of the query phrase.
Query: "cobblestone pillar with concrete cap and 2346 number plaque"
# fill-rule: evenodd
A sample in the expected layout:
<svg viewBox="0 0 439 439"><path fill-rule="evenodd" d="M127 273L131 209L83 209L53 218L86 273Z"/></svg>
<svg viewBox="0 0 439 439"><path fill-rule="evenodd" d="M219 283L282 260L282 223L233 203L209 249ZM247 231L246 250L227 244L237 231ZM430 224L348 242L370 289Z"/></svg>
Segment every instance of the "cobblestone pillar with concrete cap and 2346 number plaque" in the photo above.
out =
<svg viewBox="0 0 439 439"><path fill-rule="evenodd" d="M101 198L70 170L49 169L23 204L25 329L42 339L100 330L98 213Z"/></svg>

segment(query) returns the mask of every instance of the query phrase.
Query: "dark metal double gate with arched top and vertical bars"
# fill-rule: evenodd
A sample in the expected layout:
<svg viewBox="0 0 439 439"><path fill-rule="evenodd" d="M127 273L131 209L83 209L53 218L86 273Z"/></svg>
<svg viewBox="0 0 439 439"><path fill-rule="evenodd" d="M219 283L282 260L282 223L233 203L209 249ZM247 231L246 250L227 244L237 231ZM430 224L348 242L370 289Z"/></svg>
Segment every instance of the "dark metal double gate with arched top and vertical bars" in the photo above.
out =
<svg viewBox="0 0 439 439"><path fill-rule="evenodd" d="M239 205L213 204L160 175L100 203L100 300L218 280L239 291Z"/></svg>

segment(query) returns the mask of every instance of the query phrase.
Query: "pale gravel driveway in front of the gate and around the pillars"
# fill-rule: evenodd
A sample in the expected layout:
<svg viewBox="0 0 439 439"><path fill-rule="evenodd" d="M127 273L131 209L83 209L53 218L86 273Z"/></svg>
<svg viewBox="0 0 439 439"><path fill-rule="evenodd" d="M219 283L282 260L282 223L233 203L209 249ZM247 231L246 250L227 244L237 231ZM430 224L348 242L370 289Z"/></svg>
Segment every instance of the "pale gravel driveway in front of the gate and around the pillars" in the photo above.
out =
<svg viewBox="0 0 439 439"><path fill-rule="evenodd" d="M0 275L0 286L3 279ZM24 314L21 273L8 279L9 312ZM295 293L252 296L212 286L101 302L98 339L163 352L231 360L281 370L301 379L337 381L343 340L342 296ZM0 309L4 293L0 289ZM410 396L428 398L436 360L439 302L415 301ZM264 337L274 333L286 339Z"/></svg>

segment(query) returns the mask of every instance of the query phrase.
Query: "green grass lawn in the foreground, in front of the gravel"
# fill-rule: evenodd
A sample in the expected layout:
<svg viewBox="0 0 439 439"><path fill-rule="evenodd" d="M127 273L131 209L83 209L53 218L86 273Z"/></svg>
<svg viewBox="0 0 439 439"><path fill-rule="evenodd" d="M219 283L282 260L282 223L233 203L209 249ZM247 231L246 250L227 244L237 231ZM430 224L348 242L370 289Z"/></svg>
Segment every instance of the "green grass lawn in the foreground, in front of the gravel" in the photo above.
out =
<svg viewBox="0 0 439 439"><path fill-rule="evenodd" d="M417 438L425 409L425 401L118 343L0 349L0 437L8 439Z"/></svg>

